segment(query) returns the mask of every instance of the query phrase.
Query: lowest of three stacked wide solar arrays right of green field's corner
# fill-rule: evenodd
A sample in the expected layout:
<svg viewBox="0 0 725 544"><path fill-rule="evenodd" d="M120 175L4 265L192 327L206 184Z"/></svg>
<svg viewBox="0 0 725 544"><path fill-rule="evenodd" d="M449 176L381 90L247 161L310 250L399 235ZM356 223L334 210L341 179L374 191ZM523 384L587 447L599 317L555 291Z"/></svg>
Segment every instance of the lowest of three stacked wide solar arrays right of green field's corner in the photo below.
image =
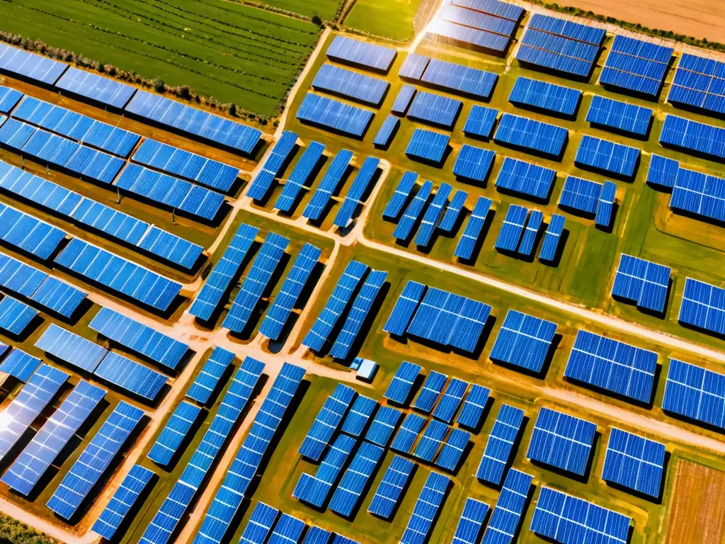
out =
<svg viewBox="0 0 725 544"><path fill-rule="evenodd" d="M307 93L297 109L297 119L310 125L331 128L345 136L361 138L368 130L373 112L326 96Z"/></svg>

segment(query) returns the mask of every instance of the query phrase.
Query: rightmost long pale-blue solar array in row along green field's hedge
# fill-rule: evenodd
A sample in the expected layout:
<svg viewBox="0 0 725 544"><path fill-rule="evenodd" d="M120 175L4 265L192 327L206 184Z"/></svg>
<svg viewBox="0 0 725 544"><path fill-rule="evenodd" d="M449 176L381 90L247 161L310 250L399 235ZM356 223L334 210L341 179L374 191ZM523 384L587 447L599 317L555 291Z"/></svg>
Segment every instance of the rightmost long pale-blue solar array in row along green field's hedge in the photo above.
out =
<svg viewBox="0 0 725 544"><path fill-rule="evenodd" d="M136 91L125 111L244 154L252 154L262 136L257 128L146 91Z"/></svg>

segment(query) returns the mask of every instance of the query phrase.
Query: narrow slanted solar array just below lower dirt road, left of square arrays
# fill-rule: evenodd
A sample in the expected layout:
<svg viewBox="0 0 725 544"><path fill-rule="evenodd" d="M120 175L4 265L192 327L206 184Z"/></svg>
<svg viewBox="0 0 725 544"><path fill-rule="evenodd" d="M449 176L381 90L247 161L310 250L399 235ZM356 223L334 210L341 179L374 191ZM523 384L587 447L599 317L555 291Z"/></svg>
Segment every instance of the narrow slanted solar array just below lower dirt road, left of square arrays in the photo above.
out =
<svg viewBox="0 0 725 544"><path fill-rule="evenodd" d="M494 426L486 442L476 478L482 482L500 485L511 456L515 454L514 445L523 424L523 410L508 404L502 404L494 421Z"/></svg>

